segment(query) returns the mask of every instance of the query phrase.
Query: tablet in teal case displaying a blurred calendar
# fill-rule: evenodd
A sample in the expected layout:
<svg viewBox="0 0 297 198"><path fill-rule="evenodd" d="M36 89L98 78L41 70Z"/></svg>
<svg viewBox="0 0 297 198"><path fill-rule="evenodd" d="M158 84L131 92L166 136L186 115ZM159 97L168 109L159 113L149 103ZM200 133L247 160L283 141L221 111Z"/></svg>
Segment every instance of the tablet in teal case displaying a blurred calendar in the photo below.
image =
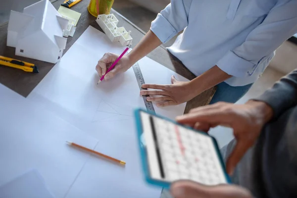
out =
<svg viewBox="0 0 297 198"><path fill-rule="evenodd" d="M143 109L135 110L135 117L148 183L167 189L177 180L231 183L212 136Z"/></svg>

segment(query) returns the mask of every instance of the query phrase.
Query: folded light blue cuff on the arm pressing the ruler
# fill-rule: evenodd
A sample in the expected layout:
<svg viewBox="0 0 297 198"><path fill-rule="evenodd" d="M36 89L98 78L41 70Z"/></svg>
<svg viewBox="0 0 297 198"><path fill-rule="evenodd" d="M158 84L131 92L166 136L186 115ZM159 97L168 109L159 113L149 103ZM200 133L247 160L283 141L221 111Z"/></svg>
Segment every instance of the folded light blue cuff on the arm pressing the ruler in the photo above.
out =
<svg viewBox="0 0 297 198"><path fill-rule="evenodd" d="M248 77L253 73L255 64L228 51L216 64L221 70L235 77Z"/></svg>

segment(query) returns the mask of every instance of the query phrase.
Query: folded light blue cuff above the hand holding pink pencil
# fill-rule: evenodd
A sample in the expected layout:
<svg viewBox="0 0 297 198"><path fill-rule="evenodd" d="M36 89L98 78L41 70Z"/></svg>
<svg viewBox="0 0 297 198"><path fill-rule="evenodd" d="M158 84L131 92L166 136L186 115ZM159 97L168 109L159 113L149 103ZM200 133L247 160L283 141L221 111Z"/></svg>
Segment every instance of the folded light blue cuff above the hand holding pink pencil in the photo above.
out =
<svg viewBox="0 0 297 198"><path fill-rule="evenodd" d="M177 31L170 22L160 13L151 22L150 30L159 38L162 43L166 43L177 34Z"/></svg>

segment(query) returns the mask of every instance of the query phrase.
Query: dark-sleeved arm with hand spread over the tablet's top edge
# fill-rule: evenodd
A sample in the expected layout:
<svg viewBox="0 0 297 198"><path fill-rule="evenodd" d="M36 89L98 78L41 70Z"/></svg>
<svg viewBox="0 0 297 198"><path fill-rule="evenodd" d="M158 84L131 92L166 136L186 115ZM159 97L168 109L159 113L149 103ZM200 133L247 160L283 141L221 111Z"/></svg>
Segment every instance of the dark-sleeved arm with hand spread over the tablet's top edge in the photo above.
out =
<svg viewBox="0 0 297 198"><path fill-rule="evenodd" d="M227 171L232 173L247 149L257 141L263 126L273 116L276 118L296 105L297 69L276 82L262 96L246 104L218 102L192 109L189 114L177 117L177 121L205 132L218 125L233 128L237 143L227 160Z"/></svg>

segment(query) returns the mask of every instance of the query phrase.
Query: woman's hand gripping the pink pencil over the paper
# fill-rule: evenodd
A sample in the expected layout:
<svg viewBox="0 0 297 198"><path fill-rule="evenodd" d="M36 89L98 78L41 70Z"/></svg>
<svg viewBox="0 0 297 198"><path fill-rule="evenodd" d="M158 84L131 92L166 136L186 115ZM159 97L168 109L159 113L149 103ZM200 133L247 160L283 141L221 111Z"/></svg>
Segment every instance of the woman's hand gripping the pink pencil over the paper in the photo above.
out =
<svg viewBox="0 0 297 198"><path fill-rule="evenodd" d="M119 57L118 54L114 53L105 53L103 57L98 61L96 65L96 71L98 72L99 76L102 77L107 69L111 67L112 63ZM115 67L108 72L104 76L104 79L110 79L114 77L118 73L123 73L127 71L133 65L132 61L130 60L128 55L124 55L119 62L115 65Z"/></svg>

